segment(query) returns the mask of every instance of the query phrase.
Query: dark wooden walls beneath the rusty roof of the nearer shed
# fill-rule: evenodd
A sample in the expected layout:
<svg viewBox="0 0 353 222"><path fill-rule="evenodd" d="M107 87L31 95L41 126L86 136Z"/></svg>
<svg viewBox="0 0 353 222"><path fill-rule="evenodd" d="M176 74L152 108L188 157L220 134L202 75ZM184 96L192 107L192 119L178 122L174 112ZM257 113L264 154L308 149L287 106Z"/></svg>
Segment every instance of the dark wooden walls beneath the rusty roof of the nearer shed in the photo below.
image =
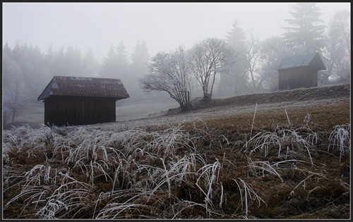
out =
<svg viewBox="0 0 353 222"><path fill-rule="evenodd" d="M49 97L44 100L44 124L61 126L114 122L115 101L102 97Z"/></svg>

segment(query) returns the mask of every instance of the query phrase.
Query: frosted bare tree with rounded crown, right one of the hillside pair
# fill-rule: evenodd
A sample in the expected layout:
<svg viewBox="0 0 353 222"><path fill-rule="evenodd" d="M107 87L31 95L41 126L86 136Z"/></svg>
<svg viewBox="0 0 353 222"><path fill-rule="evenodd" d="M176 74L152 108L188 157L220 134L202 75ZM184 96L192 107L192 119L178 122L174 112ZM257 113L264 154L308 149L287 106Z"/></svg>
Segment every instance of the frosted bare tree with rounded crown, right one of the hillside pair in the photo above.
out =
<svg viewBox="0 0 353 222"><path fill-rule="evenodd" d="M203 89L203 100L212 98L216 75L235 62L235 51L222 39L208 38L190 49L191 72Z"/></svg>

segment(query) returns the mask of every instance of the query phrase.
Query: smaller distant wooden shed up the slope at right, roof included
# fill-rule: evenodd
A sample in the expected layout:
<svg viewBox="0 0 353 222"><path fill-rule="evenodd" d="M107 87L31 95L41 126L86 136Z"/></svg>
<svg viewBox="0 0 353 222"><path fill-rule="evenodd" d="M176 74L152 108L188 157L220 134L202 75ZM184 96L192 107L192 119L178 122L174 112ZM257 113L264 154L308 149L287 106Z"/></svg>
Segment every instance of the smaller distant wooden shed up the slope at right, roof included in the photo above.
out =
<svg viewBox="0 0 353 222"><path fill-rule="evenodd" d="M278 66L278 89L292 90L318 86L318 70L326 67L317 53L289 56Z"/></svg>

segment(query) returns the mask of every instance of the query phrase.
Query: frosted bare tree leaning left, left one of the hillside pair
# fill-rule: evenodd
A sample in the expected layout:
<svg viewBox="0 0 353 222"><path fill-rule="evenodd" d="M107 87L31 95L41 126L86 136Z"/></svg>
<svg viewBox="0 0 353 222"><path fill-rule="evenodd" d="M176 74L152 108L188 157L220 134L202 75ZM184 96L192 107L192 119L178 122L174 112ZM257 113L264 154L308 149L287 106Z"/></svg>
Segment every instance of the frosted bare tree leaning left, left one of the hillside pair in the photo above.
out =
<svg viewBox="0 0 353 222"><path fill-rule="evenodd" d="M184 47L169 53L157 53L148 67L150 73L140 79L144 92L167 92L179 103L182 111L191 108L191 75Z"/></svg>

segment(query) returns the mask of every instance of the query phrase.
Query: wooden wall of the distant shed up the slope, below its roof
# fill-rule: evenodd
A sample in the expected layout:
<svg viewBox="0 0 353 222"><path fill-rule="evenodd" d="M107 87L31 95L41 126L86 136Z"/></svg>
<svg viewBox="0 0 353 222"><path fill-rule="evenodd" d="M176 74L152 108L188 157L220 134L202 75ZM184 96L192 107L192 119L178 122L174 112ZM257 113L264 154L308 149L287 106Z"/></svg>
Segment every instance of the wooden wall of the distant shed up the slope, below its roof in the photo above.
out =
<svg viewBox="0 0 353 222"><path fill-rule="evenodd" d="M278 70L278 89L292 90L318 86L318 70L308 67Z"/></svg>

